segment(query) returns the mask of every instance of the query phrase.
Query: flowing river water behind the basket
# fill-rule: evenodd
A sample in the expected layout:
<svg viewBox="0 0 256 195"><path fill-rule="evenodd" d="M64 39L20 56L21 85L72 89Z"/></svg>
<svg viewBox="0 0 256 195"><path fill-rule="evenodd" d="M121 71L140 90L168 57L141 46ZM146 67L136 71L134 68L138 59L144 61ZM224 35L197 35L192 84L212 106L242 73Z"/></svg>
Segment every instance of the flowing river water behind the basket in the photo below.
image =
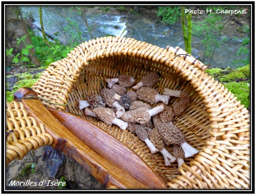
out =
<svg viewBox="0 0 256 195"><path fill-rule="evenodd" d="M22 13L24 18L31 15L34 18L33 25L40 28L38 6L24 6L22 7ZM164 49L166 46L173 48L179 46L184 49L184 39L180 24L167 26L165 23L161 23L156 16L137 12L129 14L127 17L128 23L126 23L126 13L119 13L118 15L97 14L90 11L86 14L88 26L91 28L94 38L106 35L131 37ZM42 19L45 31L63 44L68 44L69 40L72 39L72 35L78 34L75 28L70 28L68 19L76 21L73 24L77 25L77 29L82 32L80 35L81 42L92 39L81 16L68 7L42 6ZM37 30L36 32L40 34L40 31ZM57 36L54 35L56 32L58 32ZM222 35L221 38L225 37L225 35ZM211 56L203 61L205 46L200 41L201 37L193 35L192 55L208 64ZM237 44L239 41L241 42L241 40L233 40L231 44L217 48L210 62L211 67L236 68L238 65L243 65L232 64L234 59L246 58L245 55L237 56L236 54L238 48L241 47L240 44Z"/></svg>

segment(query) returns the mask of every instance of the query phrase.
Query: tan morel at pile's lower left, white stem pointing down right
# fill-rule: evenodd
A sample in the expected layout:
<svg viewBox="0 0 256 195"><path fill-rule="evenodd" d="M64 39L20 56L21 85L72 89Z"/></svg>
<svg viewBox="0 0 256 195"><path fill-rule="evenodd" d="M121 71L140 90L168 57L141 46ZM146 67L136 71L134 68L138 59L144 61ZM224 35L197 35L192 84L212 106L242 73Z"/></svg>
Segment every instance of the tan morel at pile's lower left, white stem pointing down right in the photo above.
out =
<svg viewBox="0 0 256 195"><path fill-rule="evenodd" d="M93 112L100 120L108 125L116 124L123 130L126 129L128 125L127 122L116 118L114 111L108 107L96 107L96 109L93 109Z"/></svg>

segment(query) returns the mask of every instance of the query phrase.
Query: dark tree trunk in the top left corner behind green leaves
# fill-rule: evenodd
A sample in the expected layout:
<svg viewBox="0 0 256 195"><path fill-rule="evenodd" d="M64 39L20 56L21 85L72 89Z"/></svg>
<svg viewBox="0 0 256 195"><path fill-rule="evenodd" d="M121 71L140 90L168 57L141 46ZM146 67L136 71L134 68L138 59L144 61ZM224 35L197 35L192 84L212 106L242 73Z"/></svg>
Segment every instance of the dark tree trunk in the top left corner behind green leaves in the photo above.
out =
<svg viewBox="0 0 256 195"><path fill-rule="evenodd" d="M20 42L17 45L17 38L22 38L25 35L25 42L27 45L33 45L31 38L29 36L28 30L26 28L22 13L20 12L18 6L7 6L6 7L6 49L10 50L13 48L12 54L16 56L18 53L21 53L22 49L25 49L26 46ZM29 49L30 54L29 59L31 64L35 64L36 67L40 66L40 61L33 54L35 53L34 48ZM6 66L10 66L12 63L13 57L11 55L6 56ZM27 65L29 62L20 62L19 64Z"/></svg>

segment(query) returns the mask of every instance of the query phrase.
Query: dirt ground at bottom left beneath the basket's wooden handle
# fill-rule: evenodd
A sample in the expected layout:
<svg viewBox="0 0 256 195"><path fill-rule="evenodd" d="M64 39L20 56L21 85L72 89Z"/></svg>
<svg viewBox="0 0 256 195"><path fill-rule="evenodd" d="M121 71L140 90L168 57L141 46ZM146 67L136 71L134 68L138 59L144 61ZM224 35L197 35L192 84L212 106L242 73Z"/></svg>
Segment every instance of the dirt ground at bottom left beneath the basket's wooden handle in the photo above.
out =
<svg viewBox="0 0 256 195"><path fill-rule="evenodd" d="M35 163L34 173L32 163ZM29 151L23 160L12 161L6 168L6 189L57 189L53 184L57 180L60 181L62 176L67 184L62 189L104 189L100 182L76 161L51 146ZM26 180L37 183L35 186L14 186L14 180L15 183Z"/></svg>

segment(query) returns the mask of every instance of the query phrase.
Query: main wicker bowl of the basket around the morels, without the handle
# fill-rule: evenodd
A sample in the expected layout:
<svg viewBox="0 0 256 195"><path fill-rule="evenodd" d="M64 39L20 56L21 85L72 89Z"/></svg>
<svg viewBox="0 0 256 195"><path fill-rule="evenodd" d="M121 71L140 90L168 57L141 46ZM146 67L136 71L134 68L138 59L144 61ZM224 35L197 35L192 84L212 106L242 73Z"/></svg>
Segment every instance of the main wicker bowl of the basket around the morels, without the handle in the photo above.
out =
<svg viewBox="0 0 256 195"><path fill-rule="evenodd" d="M175 55L131 38L101 37L82 43L67 58L51 63L32 89L50 102L69 103L66 106L42 101L46 107L79 115L131 148L169 189L249 189L247 109L221 83ZM133 76L138 83L150 72L160 75L159 82L154 85L160 94L164 88L182 90L192 100L185 113L174 119L174 124L180 127L187 143L200 152L184 159L180 174L177 162L165 166L162 155L151 154L135 134L83 116L77 107L78 100L99 94L101 84L106 86L105 79L124 74ZM172 106L175 101L178 98L171 98L168 105ZM173 146L166 149L173 154Z"/></svg>

